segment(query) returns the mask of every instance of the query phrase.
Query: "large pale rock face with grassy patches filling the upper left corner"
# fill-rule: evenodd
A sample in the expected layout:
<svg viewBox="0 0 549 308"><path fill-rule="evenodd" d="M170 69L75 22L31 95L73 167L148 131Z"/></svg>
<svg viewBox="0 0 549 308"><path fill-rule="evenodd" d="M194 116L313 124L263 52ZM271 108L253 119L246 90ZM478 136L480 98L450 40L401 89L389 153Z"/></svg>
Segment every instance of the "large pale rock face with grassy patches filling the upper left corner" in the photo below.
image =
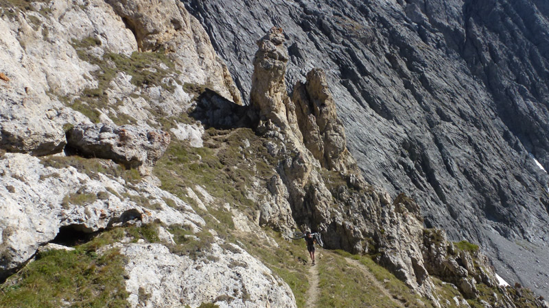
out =
<svg viewBox="0 0 549 308"><path fill-rule="evenodd" d="M154 115L185 112L196 95L189 88L197 85L240 103L240 93L208 35L179 1L107 2L38 1L29 3L25 14L5 8L16 14L0 18L5 29L0 33L0 73L5 76L0 84L1 149L58 153L67 123L121 125L130 118L139 126L158 126ZM116 74L100 82L104 68L98 63L113 57L124 60L140 47L165 55L174 68L146 67L145 75L170 72L156 84L136 84L127 66L109 62Z"/></svg>

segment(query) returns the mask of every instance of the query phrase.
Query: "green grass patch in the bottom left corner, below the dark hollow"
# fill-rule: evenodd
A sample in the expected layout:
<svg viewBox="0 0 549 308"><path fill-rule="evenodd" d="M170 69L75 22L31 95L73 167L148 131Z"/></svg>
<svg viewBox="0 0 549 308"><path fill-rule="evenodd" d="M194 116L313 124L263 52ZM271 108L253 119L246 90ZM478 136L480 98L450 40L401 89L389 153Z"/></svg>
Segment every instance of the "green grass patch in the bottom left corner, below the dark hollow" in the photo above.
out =
<svg viewBox="0 0 549 308"><path fill-rule="evenodd" d="M122 235L115 229L75 251L38 254L0 286L0 307L128 307L124 257L117 249L96 252Z"/></svg>

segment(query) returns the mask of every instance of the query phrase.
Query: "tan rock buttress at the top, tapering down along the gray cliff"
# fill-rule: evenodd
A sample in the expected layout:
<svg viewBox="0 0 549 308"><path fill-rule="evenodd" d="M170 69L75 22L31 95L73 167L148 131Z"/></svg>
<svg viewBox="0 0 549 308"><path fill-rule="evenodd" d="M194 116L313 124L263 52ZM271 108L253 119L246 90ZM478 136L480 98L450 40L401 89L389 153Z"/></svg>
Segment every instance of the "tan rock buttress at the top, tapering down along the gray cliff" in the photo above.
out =
<svg viewBox="0 0 549 308"><path fill-rule="evenodd" d="M165 49L174 54L184 82L207 85L242 104L229 70L219 59L207 33L185 5L174 0L106 1L135 34L141 51Z"/></svg>

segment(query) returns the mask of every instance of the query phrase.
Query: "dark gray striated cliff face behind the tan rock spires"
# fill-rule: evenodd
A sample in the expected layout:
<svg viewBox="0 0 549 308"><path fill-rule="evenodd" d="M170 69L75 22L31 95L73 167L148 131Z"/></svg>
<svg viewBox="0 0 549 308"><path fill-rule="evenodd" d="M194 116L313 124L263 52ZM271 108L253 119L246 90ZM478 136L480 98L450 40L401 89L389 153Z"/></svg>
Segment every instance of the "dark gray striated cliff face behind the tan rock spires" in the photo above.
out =
<svg viewBox="0 0 549 308"><path fill-rule="evenodd" d="M549 5L544 1L183 1L244 101L255 42L283 27L287 86L323 68L370 183L479 242L549 295ZM529 155L531 153L531 155ZM545 260L545 261L544 261Z"/></svg>

